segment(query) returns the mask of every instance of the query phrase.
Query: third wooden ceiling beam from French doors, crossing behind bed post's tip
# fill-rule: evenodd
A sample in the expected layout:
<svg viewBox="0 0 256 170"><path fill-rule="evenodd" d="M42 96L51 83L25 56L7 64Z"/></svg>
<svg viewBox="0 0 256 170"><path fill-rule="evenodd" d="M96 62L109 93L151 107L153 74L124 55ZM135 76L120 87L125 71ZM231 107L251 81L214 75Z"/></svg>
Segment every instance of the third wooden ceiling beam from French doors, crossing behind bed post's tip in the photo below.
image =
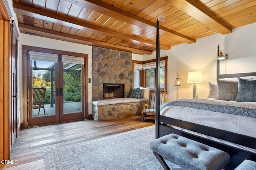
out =
<svg viewBox="0 0 256 170"><path fill-rule="evenodd" d="M119 8L106 4L99 0L65 0L65 1L70 2L72 4L76 4L86 9L90 9L100 14L104 14L106 16L113 17L118 20L130 23L132 25L136 25L144 29L156 31L156 23L148 21L144 18L140 18L132 13L126 12L124 10L121 10ZM161 25L159 28L160 28L161 35L170 36L173 39L176 39L184 43L191 44L196 42L196 40L191 37L188 37L186 35L183 35L181 33L178 33L166 27L161 27Z"/></svg>

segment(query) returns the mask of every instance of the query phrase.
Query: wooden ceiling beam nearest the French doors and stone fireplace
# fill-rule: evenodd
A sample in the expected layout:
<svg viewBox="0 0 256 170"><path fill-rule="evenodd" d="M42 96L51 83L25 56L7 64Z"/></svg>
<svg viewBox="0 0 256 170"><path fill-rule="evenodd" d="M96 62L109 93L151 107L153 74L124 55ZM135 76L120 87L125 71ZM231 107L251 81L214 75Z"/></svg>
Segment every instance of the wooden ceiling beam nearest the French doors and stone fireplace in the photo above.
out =
<svg viewBox="0 0 256 170"><path fill-rule="evenodd" d="M141 55L144 55L144 54L150 55L150 54L152 54L151 51L144 51L144 50L140 50L140 49L124 47L124 46L121 46L121 45L114 45L114 44L110 44L110 43L104 43L104 42L96 41L96 40L93 40L93 39L78 37L78 36L75 36L75 35L69 35L69 34L60 33L60 32L57 32L57 31L51 31L51 30L47 30L47 29L43 29L43 28L39 28L39 27L30 26L30 25L19 24L19 29L20 29L20 31L25 31L25 32L28 32L28 33L44 35L44 36L47 36L47 37L54 37L54 38L57 38L57 39L66 39L68 41L75 41L75 42L82 43L84 45L104 47L104 48L114 49L114 50L119 50L119 51L127 51L127 52L131 52L131 53L135 53L135 54L141 54Z"/></svg>

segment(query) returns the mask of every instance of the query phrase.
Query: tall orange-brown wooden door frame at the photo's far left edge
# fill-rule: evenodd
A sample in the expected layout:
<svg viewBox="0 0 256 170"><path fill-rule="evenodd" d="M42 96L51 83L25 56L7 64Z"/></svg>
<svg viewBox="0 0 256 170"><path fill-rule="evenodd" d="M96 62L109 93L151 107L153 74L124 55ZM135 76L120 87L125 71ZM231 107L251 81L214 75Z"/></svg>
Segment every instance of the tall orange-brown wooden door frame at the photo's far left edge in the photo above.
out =
<svg viewBox="0 0 256 170"><path fill-rule="evenodd" d="M10 44L10 21L0 20L0 160L10 159Z"/></svg>

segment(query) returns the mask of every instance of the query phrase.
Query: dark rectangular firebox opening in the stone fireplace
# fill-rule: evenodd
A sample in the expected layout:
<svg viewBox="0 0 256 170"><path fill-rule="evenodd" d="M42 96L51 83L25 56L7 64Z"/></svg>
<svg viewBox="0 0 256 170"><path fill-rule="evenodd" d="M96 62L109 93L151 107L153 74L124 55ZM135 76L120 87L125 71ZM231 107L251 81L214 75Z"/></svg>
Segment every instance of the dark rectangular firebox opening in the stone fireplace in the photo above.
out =
<svg viewBox="0 0 256 170"><path fill-rule="evenodd" d="M103 83L103 98L124 98L124 84Z"/></svg>

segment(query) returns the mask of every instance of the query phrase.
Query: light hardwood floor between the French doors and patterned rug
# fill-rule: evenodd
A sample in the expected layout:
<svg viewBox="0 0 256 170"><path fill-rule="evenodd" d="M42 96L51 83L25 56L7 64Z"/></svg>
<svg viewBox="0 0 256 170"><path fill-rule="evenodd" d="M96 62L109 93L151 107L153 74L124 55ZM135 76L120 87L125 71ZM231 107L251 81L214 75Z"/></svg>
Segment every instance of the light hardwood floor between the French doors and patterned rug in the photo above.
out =
<svg viewBox="0 0 256 170"><path fill-rule="evenodd" d="M12 160L6 170L44 170L44 152L67 145L114 135L154 125L154 120L142 121L143 115L109 121L84 120L58 125L23 129L14 143Z"/></svg>

